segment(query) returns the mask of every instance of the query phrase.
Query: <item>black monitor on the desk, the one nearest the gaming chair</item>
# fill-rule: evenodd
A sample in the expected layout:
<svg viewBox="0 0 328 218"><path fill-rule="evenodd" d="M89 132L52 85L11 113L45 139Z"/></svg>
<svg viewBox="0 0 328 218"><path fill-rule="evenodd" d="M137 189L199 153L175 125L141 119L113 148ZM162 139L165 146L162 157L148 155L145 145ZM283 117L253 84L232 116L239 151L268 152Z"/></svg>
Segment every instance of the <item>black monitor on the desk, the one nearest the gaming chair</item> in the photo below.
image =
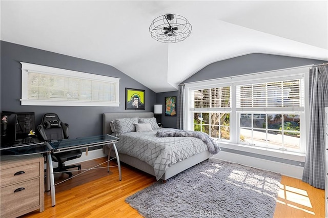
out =
<svg viewBox="0 0 328 218"><path fill-rule="evenodd" d="M34 112L16 113L15 140L24 139L35 131Z"/></svg>

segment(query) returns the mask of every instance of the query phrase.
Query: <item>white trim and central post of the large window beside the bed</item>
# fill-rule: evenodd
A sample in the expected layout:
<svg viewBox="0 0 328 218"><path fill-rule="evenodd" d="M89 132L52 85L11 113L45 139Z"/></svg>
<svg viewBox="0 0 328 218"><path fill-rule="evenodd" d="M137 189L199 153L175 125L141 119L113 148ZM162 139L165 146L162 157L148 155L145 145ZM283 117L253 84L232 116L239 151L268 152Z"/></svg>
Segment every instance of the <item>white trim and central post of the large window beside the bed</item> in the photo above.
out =
<svg viewBox="0 0 328 218"><path fill-rule="evenodd" d="M223 86L232 84L232 102L231 102L231 114L234 116L230 116L230 135L231 140L230 142L220 141L220 146L224 148L234 149L234 150L241 150L246 152L251 152L253 154L259 154L259 155L267 155L271 157L278 157L278 158L285 158L289 160L295 160L304 162L305 161L305 152L306 152L306 143L308 139L308 130L309 130L309 68L312 65L308 66L302 66L302 67L296 67L296 68L287 68L287 69L280 69L280 70L274 70L274 71L265 71L265 72L259 72L259 73L253 73L253 74L247 74L247 75L241 75L241 76L232 76L232 77L224 77L220 79L211 79L211 80L204 80L199 82L190 82L185 83L186 88L186 101L189 101L189 94L191 90L195 89L204 89L208 87L213 87L215 85ZM300 152L292 152L292 151L284 151L284 150L276 150L276 149L270 149L270 148L262 148L262 147L254 147L244 144L239 144L239 129L237 129L238 121L237 119L237 110L236 110L236 89L234 88L236 85L239 84L245 84L249 81L252 81L256 83L257 81L263 80L263 78L268 80L275 80L277 78L281 79L288 79L290 77L300 76L304 77L304 114L305 116L305 124L301 125L301 131L305 133L305 136L303 140L305 141L305 146L301 147ZM268 79L268 80L267 80ZM191 110L190 105L186 103L186 120L184 120L184 125L186 126L186 130L193 130L193 123L190 120L192 119L192 113L193 110ZM239 109L238 109L239 110ZM242 111L242 110L241 110ZM270 109L268 110L270 111ZM240 112L240 111L239 111Z"/></svg>

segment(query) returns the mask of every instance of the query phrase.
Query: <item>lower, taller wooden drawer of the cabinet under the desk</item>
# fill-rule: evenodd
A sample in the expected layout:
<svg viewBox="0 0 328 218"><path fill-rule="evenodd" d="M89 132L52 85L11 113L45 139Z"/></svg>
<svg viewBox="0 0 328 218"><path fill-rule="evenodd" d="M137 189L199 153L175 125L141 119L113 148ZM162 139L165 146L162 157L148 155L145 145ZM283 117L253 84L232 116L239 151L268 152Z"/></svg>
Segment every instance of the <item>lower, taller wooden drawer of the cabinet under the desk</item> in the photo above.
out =
<svg viewBox="0 0 328 218"><path fill-rule="evenodd" d="M39 184L40 179L36 178L1 188L1 217L40 205Z"/></svg>

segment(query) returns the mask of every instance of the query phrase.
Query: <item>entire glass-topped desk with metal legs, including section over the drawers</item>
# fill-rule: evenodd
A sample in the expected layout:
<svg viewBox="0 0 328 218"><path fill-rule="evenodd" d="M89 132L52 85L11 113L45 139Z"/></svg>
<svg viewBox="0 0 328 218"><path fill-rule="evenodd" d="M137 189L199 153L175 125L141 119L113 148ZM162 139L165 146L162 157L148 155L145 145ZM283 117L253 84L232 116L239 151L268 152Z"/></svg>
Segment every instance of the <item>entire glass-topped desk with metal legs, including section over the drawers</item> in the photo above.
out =
<svg viewBox="0 0 328 218"><path fill-rule="evenodd" d="M33 155L33 154L47 154L47 191L51 192L51 203L52 206L56 205L56 193L55 193L55 179L54 179L54 171L53 171L53 165L52 165L52 158L51 154L56 154L58 152L64 152L69 150L75 150L75 149L86 149L86 155L88 155L88 148L89 147L95 147L95 146L101 146L101 145L107 145L110 149L114 149L116 159L117 159L117 167L118 167L118 174L119 174L119 180L121 180L121 167L119 162L119 156L118 152L115 146L115 142L118 142L119 138L116 138L111 135L101 135L101 136L91 136L91 137L84 137L84 138L76 138L76 139L62 139L62 140L53 140L53 141L46 141L46 142L38 142L33 144L17 144L11 147L5 147L1 148L1 155ZM107 159L107 171L109 171L109 161L110 156L108 156ZM97 165L99 166L99 165ZM97 166L92 167L90 169L86 169L81 173L84 173L86 171L89 171L91 169L96 169ZM98 167L99 168L99 167ZM77 175L69 178L72 179L81 173L78 173ZM68 179L67 179L68 180ZM64 180L66 181L66 180ZM62 181L62 182L64 182Z"/></svg>

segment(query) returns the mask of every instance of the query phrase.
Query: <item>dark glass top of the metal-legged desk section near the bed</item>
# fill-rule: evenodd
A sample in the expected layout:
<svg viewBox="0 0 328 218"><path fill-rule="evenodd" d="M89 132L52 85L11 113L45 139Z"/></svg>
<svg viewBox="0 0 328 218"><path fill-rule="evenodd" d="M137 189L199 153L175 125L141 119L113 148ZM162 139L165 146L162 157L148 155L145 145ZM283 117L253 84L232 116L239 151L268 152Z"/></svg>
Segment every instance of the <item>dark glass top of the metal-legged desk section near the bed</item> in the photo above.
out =
<svg viewBox="0 0 328 218"><path fill-rule="evenodd" d="M117 137L111 135L100 135L100 136L90 136L76 139L61 139L49 141L49 145L54 150L76 148L76 147L92 147L98 145L105 145L114 142L118 142Z"/></svg>

